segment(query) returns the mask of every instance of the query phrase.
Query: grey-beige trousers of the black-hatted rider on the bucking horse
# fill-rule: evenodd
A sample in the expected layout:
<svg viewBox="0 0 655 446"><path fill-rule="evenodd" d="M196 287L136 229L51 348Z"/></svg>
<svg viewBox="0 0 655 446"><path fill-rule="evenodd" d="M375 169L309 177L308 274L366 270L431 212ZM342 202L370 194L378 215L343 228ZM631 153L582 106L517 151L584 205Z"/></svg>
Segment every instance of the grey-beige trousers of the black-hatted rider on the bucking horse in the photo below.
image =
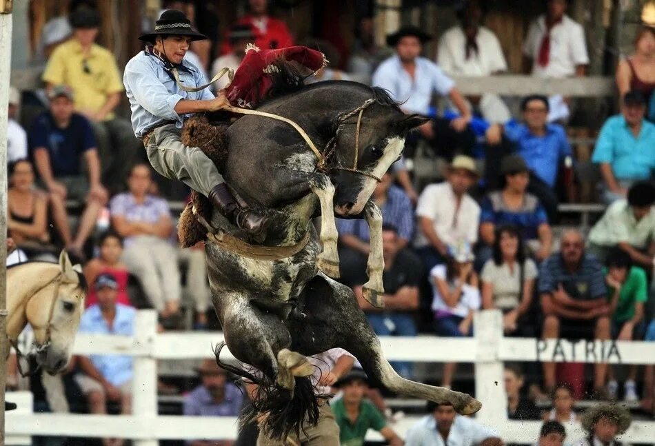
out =
<svg viewBox="0 0 655 446"><path fill-rule="evenodd" d="M202 150L181 141L182 130L174 124L154 129L145 150L154 170L166 178L179 180L204 196L224 183L216 165Z"/></svg>

